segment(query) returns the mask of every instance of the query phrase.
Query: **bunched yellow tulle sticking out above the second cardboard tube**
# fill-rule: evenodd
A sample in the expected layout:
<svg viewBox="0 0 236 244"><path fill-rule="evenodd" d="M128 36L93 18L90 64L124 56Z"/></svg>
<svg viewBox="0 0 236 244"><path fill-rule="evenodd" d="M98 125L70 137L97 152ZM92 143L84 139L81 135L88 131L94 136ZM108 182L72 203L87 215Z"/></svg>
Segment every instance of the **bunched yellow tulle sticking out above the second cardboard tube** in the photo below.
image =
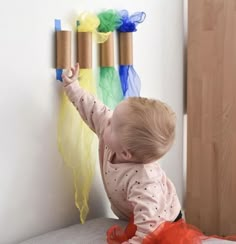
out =
<svg viewBox="0 0 236 244"><path fill-rule="evenodd" d="M107 32L107 33L98 32L97 27L99 26L99 24L100 24L100 20L95 14L84 12L77 19L76 31L92 32L95 36L96 42L103 43L108 39L111 32Z"/></svg>

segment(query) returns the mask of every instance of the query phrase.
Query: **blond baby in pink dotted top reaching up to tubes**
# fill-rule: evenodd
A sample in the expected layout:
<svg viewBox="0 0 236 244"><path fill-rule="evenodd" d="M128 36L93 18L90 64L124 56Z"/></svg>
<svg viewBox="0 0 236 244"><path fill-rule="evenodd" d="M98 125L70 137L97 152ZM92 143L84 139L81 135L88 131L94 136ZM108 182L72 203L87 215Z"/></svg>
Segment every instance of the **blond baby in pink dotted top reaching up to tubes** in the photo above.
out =
<svg viewBox="0 0 236 244"><path fill-rule="evenodd" d="M111 208L120 219L133 218L136 226L134 235L122 243L140 244L162 223L181 219L175 187L158 163L173 144L175 113L161 101L142 97L127 98L112 111L76 82L79 64L71 71L71 76L68 71L62 75L63 86L99 138L101 174Z"/></svg>

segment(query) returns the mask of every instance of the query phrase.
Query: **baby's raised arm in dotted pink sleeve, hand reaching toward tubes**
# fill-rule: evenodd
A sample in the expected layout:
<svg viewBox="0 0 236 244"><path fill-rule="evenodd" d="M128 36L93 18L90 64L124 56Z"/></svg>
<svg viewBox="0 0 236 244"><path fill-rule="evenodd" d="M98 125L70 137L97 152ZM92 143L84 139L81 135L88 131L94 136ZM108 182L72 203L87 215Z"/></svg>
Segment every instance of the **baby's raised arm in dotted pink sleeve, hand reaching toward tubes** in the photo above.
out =
<svg viewBox="0 0 236 244"><path fill-rule="evenodd" d="M112 116L112 111L80 87L79 82L77 82L79 73L78 63L74 68L71 68L71 72L71 76L69 76L69 70L65 71L62 75L65 92L84 122L100 136L108 119Z"/></svg>

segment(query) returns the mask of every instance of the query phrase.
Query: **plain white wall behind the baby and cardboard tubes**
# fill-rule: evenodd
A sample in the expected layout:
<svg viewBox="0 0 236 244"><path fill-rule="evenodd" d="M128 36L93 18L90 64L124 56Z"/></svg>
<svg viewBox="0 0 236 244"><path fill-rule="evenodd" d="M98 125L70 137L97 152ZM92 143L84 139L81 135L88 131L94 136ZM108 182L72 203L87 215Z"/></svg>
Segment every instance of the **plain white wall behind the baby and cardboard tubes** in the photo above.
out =
<svg viewBox="0 0 236 244"><path fill-rule="evenodd" d="M54 19L73 29L84 10L145 11L134 34L142 95L177 112L177 140L162 160L183 199L183 6L181 0L4 1L0 15L0 244L79 221L72 175L57 150L60 85L55 81ZM100 186L101 187L100 187ZM95 202L96 200L96 202ZM97 170L90 218L111 216Z"/></svg>

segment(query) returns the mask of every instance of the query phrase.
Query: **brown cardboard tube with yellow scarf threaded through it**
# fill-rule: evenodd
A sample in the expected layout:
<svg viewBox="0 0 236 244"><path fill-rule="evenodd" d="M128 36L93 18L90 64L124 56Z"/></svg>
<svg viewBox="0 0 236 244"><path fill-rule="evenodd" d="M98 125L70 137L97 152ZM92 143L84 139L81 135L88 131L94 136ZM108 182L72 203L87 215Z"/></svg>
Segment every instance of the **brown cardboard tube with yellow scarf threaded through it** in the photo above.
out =
<svg viewBox="0 0 236 244"><path fill-rule="evenodd" d="M81 69L92 68L92 32L77 32L76 60Z"/></svg>

